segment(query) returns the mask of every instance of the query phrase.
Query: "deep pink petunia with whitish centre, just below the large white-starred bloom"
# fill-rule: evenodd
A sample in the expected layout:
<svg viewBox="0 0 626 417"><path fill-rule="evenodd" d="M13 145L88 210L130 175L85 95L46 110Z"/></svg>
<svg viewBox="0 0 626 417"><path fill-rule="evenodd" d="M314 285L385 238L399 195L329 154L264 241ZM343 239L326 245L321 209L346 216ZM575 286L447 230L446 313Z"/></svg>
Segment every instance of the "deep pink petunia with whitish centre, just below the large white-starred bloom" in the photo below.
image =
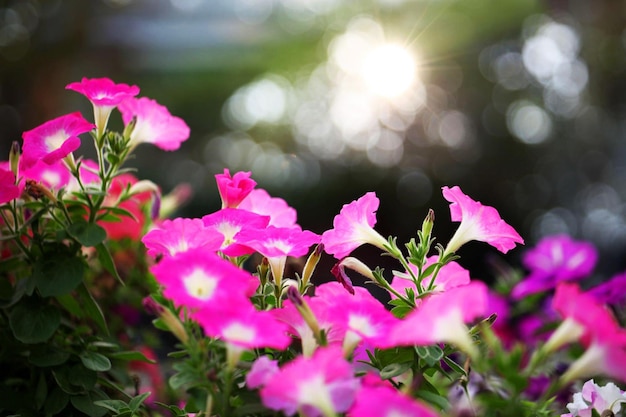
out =
<svg viewBox="0 0 626 417"><path fill-rule="evenodd" d="M238 348L283 350L291 343L287 325L269 311L257 311L252 304L231 302L217 310L199 310L192 317L208 336Z"/></svg>

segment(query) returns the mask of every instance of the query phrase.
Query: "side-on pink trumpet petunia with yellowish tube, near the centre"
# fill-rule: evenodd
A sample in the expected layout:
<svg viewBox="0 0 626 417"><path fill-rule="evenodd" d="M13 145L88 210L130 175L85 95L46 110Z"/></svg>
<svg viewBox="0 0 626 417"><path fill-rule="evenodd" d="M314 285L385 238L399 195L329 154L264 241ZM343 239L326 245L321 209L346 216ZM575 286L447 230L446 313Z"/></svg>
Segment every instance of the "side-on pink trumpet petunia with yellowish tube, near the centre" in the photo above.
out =
<svg viewBox="0 0 626 417"><path fill-rule="evenodd" d="M268 226L261 230L242 230L237 234L239 242L267 258L277 285L282 281L287 257L306 255L319 239L319 235L300 227Z"/></svg>

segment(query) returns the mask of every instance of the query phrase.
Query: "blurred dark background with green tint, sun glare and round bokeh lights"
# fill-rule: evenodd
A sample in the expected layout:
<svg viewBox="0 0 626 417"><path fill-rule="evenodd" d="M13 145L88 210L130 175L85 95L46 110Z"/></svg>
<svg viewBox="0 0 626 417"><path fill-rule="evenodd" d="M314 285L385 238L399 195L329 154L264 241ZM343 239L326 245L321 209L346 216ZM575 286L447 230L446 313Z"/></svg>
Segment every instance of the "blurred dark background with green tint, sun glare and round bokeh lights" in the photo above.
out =
<svg viewBox="0 0 626 417"><path fill-rule="evenodd" d="M526 247L567 233L601 251L596 279L626 270L623 1L0 0L2 155L53 117L90 119L64 90L82 77L138 85L189 124L179 151L131 161L165 192L191 185L177 216L217 210L227 167L305 229L375 191L381 234L405 242L433 208L445 244L440 189L459 185ZM461 263L489 279L524 250L474 242Z"/></svg>

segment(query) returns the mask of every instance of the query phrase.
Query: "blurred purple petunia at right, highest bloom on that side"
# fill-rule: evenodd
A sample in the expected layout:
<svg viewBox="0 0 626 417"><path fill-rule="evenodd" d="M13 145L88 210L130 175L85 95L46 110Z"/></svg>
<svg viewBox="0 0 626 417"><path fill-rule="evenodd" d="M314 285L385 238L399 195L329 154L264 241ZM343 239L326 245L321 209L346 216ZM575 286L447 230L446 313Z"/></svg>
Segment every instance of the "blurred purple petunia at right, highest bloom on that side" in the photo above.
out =
<svg viewBox="0 0 626 417"><path fill-rule="evenodd" d="M587 277L596 265L598 252L589 242L567 235L548 236L527 251L522 262L530 274L511 292L514 299L553 289L559 282Z"/></svg>

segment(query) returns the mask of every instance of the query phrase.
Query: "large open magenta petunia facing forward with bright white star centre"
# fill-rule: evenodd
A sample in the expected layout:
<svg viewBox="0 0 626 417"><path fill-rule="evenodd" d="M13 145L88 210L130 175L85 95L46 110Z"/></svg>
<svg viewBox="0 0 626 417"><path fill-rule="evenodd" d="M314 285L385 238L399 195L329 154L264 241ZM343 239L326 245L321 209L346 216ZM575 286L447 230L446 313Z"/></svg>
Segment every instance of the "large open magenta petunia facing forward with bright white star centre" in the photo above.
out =
<svg viewBox="0 0 626 417"><path fill-rule="evenodd" d="M150 272L164 287L165 297L190 309L249 302L259 284L250 273L203 248L163 258Z"/></svg>

